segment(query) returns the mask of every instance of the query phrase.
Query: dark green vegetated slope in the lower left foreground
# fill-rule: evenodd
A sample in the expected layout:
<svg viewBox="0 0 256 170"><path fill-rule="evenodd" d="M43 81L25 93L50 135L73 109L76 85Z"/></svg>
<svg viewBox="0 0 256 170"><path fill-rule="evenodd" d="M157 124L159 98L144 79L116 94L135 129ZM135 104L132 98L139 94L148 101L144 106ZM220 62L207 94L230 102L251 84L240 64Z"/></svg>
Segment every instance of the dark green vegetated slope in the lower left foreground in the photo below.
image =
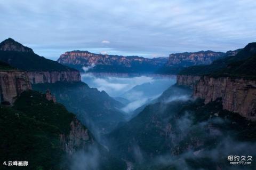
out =
<svg viewBox="0 0 256 170"><path fill-rule="evenodd" d="M60 169L59 135L68 133L74 117L45 94L23 92L13 107L0 109L1 163L27 160L28 169Z"/></svg>

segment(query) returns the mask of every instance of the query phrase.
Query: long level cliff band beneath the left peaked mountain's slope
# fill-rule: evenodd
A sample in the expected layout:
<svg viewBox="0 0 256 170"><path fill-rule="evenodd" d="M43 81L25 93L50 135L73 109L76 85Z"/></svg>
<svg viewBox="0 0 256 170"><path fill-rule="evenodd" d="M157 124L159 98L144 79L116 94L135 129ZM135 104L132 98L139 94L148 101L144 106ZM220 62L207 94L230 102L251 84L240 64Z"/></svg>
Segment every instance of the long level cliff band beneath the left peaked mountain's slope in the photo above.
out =
<svg viewBox="0 0 256 170"><path fill-rule="evenodd" d="M79 71L28 71L32 84L56 82L80 82Z"/></svg>

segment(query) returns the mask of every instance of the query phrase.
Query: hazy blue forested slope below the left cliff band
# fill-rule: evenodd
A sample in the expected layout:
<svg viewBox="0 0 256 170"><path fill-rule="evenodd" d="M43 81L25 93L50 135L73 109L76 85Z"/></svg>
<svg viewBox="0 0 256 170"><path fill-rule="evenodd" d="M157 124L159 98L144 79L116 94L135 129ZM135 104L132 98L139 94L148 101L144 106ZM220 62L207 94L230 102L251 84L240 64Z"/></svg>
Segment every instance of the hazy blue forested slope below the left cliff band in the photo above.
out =
<svg viewBox="0 0 256 170"><path fill-rule="evenodd" d="M125 120L123 112L119 110L124 107L122 103L111 98L105 91L90 88L83 82L34 84L32 87L40 92L49 89L57 101L74 112L94 134L108 133Z"/></svg>

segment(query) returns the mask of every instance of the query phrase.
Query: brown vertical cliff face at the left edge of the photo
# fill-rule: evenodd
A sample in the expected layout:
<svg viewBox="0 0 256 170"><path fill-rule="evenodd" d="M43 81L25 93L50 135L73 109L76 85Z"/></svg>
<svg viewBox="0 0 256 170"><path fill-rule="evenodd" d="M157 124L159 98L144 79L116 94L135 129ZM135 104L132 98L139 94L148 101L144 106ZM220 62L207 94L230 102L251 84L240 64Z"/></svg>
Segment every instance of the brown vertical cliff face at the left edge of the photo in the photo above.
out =
<svg viewBox="0 0 256 170"><path fill-rule="evenodd" d="M23 91L30 90L31 84L24 71L0 71L0 101L12 104Z"/></svg>

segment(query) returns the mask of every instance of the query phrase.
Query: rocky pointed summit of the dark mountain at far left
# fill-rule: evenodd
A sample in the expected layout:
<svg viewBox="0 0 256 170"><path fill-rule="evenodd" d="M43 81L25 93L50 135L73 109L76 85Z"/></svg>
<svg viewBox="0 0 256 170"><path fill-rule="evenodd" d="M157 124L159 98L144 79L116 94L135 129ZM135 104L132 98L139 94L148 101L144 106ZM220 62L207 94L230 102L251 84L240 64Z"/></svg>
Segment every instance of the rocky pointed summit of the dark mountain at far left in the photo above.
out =
<svg viewBox="0 0 256 170"><path fill-rule="evenodd" d="M2 43L0 43L0 51L18 51L34 53L31 48L23 46L22 44L14 41L14 39L12 38L7 38Z"/></svg>

